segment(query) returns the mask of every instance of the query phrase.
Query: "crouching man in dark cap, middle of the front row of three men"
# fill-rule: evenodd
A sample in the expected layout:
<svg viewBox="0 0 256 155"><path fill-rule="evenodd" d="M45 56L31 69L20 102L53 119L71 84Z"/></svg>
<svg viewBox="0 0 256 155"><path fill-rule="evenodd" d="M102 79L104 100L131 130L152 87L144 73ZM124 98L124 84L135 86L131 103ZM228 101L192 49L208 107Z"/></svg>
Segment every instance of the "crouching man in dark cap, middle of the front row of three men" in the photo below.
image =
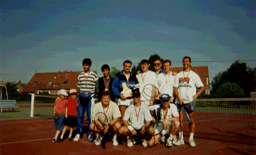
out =
<svg viewBox="0 0 256 155"><path fill-rule="evenodd" d="M127 146L133 147L131 136L144 137L142 146L147 147L146 128L149 127L152 117L149 108L140 102L140 90L133 90L133 105L130 105L123 116L123 126L118 130L120 136L127 138ZM146 123L145 123L146 122Z"/></svg>

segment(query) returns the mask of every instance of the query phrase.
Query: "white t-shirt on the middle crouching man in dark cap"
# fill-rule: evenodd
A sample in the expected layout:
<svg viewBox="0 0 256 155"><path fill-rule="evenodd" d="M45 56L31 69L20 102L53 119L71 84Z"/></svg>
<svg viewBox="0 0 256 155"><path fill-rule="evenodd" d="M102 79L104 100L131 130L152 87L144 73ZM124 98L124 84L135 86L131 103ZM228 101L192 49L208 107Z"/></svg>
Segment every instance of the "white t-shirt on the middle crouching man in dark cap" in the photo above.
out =
<svg viewBox="0 0 256 155"><path fill-rule="evenodd" d="M136 108L136 111L135 111ZM138 115L138 118L137 118ZM123 116L123 120L128 121L128 123L136 130L141 129L143 125L147 121L152 121L151 114L149 112L149 108L141 104L140 106L136 107L134 105L130 105L125 110L125 115Z"/></svg>

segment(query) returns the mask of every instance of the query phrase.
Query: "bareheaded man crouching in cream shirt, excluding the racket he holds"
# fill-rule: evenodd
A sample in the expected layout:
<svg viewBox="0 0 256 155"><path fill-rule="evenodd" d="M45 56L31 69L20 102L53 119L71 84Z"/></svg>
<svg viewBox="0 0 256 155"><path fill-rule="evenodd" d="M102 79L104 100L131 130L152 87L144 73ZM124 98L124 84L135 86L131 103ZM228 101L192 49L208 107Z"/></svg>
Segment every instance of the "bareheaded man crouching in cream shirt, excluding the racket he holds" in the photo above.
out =
<svg viewBox="0 0 256 155"><path fill-rule="evenodd" d="M96 134L96 140L94 142L96 145L101 144L102 138L99 134L99 129L97 129L95 125L94 117L98 112L103 112L108 119L108 124L105 126L104 131L108 133L109 130L112 130L114 132L112 145L118 146L118 129L121 127L121 123L118 121L118 119L121 117L121 113L118 105L116 105L116 103L113 101L110 101L110 96L111 94L108 90L101 92L101 101L96 103L92 109L92 123L90 124L90 130Z"/></svg>

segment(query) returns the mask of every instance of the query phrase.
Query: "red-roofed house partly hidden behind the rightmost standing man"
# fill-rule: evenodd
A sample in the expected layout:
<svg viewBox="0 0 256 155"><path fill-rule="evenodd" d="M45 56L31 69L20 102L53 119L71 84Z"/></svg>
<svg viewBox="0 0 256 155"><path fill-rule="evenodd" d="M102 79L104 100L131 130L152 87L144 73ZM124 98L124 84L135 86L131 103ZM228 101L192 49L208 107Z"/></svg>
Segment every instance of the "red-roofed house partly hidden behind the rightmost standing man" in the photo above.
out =
<svg viewBox="0 0 256 155"><path fill-rule="evenodd" d="M201 67L190 67L191 70L196 72L198 76L201 78L203 85L205 86L205 94L210 94L210 82L209 82L209 70L208 66L201 66ZM172 67L172 72L181 72L183 67Z"/></svg>

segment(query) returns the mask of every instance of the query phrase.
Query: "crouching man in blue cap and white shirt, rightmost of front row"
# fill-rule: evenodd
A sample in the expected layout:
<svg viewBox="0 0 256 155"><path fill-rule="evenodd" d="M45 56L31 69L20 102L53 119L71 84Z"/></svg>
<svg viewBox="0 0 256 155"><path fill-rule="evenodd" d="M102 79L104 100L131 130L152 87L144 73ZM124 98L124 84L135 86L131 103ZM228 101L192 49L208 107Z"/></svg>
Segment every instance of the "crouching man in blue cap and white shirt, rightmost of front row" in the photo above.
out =
<svg viewBox="0 0 256 155"><path fill-rule="evenodd" d="M157 134L151 134L154 136L151 136L147 144L149 147L153 147L161 138L164 139L163 141L166 141L166 134L170 134L165 145L169 149L172 149L173 138L179 129L179 112L177 111L176 106L170 103L170 96L168 94L162 94L160 101L160 105L153 105L149 107L149 110L151 114L153 114L153 123L154 121L162 121L164 128L162 132L157 130Z"/></svg>

